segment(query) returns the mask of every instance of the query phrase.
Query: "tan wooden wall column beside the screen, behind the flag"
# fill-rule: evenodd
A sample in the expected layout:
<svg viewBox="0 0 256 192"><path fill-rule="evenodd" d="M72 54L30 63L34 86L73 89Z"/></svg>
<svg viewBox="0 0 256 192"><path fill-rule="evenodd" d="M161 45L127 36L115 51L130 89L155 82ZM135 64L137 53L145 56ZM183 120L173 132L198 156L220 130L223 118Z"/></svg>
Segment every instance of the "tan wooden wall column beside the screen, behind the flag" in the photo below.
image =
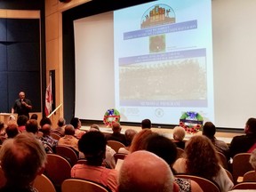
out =
<svg viewBox="0 0 256 192"><path fill-rule="evenodd" d="M52 124L57 124L64 116L63 108L63 60L62 60L62 12L88 0L72 0L61 3L59 0L45 0L45 42L46 42L46 82L49 81L49 71L55 71L55 106L58 108L51 116ZM52 80L53 81L53 80Z"/></svg>

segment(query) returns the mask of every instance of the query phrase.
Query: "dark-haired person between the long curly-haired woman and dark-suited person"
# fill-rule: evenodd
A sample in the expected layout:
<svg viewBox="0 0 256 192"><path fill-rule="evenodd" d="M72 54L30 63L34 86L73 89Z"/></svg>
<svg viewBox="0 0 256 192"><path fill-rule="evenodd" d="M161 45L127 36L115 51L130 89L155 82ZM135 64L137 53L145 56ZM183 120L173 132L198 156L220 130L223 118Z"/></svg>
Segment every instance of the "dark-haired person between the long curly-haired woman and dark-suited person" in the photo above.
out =
<svg viewBox="0 0 256 192"><path fill-rule="evenodd" d="M214 135L216 132L215 125L212 124L212 122L206 122L203 126L203 135L205 135L207 138L209 138L212 141L212 144L216 148L217 151L222 153L224 156L229 158L229 148L227 143L225 143L223 140L217 140Z"/></svg>

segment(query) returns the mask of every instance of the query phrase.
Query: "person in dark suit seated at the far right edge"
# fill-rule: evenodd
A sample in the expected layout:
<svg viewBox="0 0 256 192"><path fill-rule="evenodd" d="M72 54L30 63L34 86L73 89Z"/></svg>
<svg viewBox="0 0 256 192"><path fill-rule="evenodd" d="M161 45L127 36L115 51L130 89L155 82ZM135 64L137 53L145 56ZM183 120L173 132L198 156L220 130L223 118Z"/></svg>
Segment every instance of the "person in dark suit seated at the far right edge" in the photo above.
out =
<svg viewBox="0 0 256 192"><path fill-rule="evenodd" d="M256 118L249 118L244 127L245 135L235 136L231 140L229 151L230 156L236 156L238 153L252 151L256 142Z"/></svg>

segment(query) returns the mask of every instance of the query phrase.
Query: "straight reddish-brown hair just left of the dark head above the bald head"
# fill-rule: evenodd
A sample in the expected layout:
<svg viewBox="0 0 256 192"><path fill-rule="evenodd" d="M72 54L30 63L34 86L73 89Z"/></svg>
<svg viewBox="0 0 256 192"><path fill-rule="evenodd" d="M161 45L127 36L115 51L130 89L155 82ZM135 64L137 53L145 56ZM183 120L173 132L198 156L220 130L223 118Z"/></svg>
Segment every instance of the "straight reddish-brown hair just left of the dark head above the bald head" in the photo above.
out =
<svg viewBox="0 0 256 192"><path fill-rule="evenodd" d="M152 134L157 134L157 133L152 132L151 129L142 129L140 132L138 132L132 140L131 147L129 148L130 153L138 150L143 150L145 148L144 147L145 140L147 140L148 136Z"/></svg>

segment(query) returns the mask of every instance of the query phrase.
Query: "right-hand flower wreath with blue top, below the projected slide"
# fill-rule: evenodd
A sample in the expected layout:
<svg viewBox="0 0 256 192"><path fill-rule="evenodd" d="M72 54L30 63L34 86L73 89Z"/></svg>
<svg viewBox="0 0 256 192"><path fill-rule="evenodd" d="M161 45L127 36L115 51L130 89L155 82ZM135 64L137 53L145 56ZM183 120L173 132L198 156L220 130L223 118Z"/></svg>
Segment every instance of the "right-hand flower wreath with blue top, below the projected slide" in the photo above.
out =
<svg viewBox="0 0 256 192"><path fill-rule="evenodd" d="M180 126L190 134L199 132L203 123L203 116L193 111L185 112L180 116Z"/></svg>

